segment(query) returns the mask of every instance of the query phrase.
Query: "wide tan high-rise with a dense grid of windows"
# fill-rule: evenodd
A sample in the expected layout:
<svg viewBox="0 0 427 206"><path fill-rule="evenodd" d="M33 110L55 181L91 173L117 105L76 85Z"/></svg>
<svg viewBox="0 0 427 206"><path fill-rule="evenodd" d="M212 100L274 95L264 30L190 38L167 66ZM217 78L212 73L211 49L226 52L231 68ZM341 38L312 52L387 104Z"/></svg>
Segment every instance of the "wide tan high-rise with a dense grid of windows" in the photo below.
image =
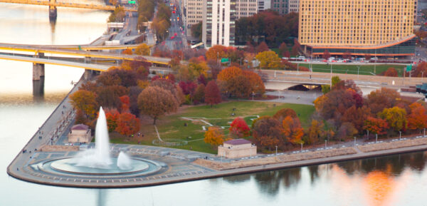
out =
<svg viewBox="0 0 427 206"><path fill-rule="evenodd" d="M298 40L307 53L412 56L416 0L300 0Z"/></svg>

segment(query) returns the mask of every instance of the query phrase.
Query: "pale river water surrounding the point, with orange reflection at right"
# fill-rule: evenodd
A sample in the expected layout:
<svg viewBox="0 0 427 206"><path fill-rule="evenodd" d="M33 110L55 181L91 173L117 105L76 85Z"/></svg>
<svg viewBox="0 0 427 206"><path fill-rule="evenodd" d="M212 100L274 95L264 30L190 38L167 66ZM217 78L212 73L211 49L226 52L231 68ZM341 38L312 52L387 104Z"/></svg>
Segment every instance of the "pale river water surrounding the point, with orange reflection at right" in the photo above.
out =
<svg viewBox="0 0 427 206"><path fill-rule="evenodd" d="M104 11L0 4L0 42L78 44L105 31ZM16 180L6 167L78 81L82 69L46 65L33 99L31 63L0 61L0 205L426 205L427 153L409 153L131 189L79 189Z"/></svg>

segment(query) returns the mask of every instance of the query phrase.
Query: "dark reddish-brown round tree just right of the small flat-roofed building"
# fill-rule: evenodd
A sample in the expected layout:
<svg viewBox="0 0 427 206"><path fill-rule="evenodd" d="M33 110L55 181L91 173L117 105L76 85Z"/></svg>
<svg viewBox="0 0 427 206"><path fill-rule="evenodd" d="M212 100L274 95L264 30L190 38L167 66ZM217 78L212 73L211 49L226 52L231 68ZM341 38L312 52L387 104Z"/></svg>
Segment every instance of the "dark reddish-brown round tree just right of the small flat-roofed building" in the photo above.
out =
<svg viewBox="0 0 427 206"><path fill-rule="evenodd" d="M271 117L260 117L253 123L253 138L260 148L271 150L275 146L280 146L283 140L283 126L278 120Z"/></svg>

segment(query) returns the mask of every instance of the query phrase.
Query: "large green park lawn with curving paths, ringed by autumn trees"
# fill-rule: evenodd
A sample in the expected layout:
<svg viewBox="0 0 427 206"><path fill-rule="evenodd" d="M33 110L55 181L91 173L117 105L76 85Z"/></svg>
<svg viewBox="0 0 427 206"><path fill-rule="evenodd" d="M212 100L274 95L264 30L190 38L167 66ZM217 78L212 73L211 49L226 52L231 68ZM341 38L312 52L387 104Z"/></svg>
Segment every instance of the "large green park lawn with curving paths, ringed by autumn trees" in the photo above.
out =
<svg viewBox="0 0 427 206"><path fill-rule="evenodd" d="M233 108L236 110L233 111ZM310 119L315 108L312 105L297 105L290 103L270 103L258 101L231 101L214 105L197 105L186 108L181 108L178 113L167 115L159 118L157 121L157 129L162 140L171 141L188 141L187 145L174 146L173 148L181 148L186 150L196 150L204 153L216 153L216 148L204 143L204 133L202 129L206 123L201 122L202 118L206 118L207 122L216 126L223 126L224 134L228 135L229 124L236 117L241 117L246 120L246 123L251 127L252 120L257 118L256 115L274 115L282 108L292 108L295 110L300 118L302 127L308 127L308 120ZM235 113L234 116L231 113ZM182 117L192 118L191 120L184 120ZM144 118L141 120L141 133L142 137L125 138L118 133L110 133L111 143L126 143L137 144L138 141L142 145L153 145L153 140L157 140L157 133L152 125L151 118ZM184 124L186 123L186 126Z"/></svg>

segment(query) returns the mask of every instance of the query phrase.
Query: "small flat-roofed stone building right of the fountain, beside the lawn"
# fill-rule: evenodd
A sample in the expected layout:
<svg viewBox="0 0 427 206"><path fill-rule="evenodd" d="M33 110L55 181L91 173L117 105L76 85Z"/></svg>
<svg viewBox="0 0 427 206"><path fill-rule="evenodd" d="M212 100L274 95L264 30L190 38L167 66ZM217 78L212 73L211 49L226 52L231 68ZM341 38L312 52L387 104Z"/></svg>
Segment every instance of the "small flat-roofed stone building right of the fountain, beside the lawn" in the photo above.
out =
<svg viewBox="0 0 427 206"><path fill-rule="evenodd" d="M256 146L244 139L228 140L218 146L218 156L225 158L244 158L256 155Z"/></svg>

